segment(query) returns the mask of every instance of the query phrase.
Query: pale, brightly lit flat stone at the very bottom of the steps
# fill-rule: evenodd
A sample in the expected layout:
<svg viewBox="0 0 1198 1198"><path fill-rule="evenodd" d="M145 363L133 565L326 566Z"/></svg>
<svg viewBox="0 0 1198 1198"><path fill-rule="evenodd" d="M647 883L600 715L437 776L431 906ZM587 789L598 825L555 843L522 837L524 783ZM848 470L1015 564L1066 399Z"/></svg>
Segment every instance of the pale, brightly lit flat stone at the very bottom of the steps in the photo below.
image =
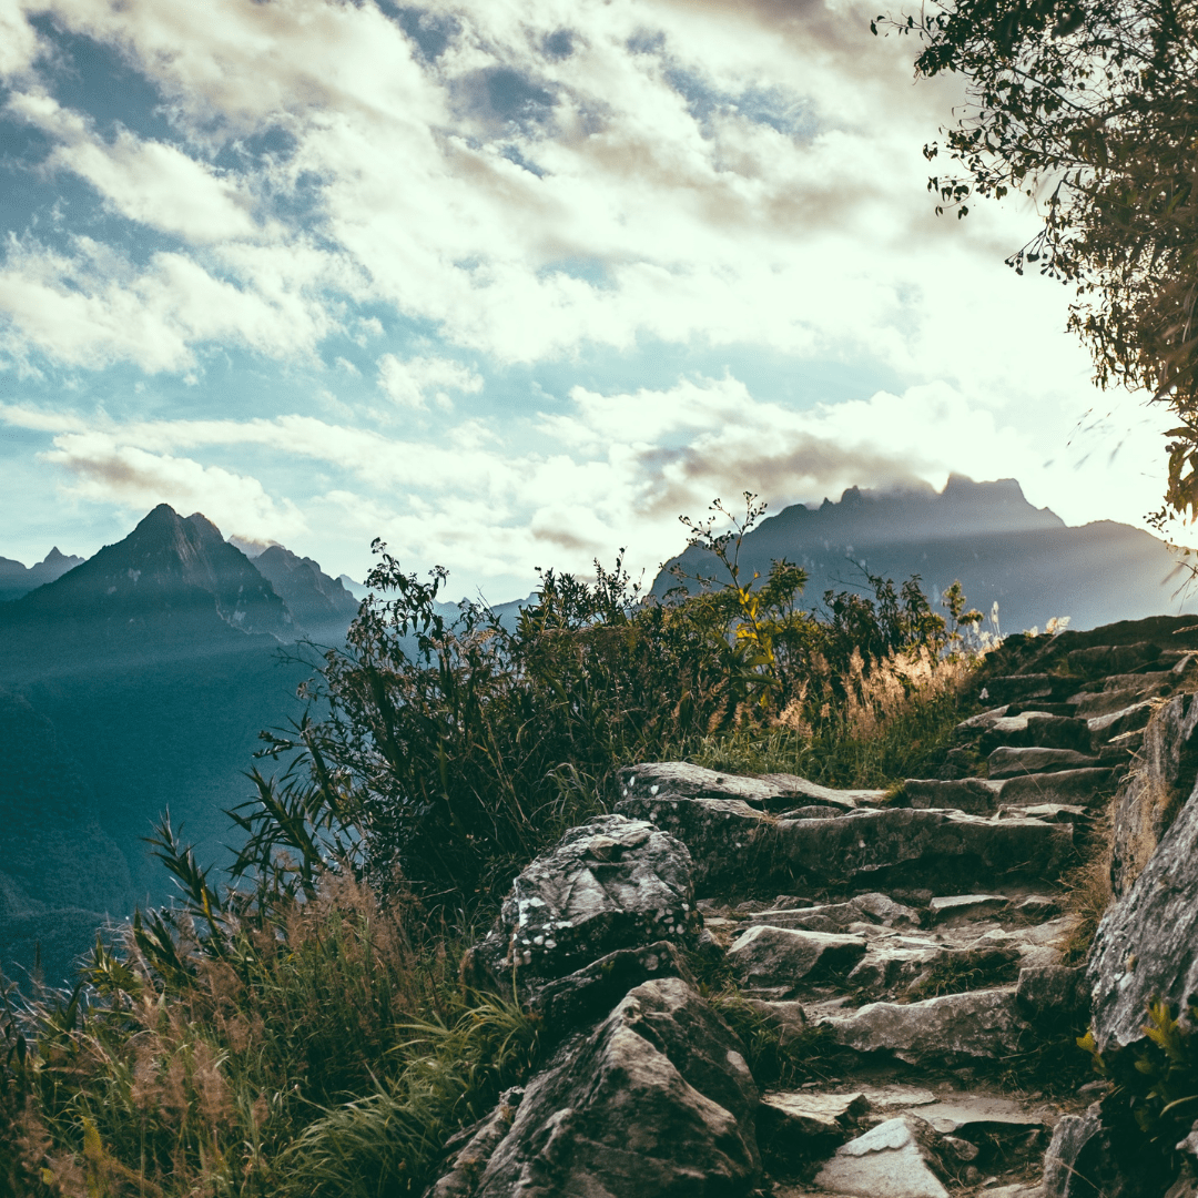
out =
<svg viewBox="0 0 1198 1198"><path fill-rule="evenodd" d="M888 1119L836 1149L815 1185L835 1194L870 1198L948 1198L932 1170L931 1137L912 1117Z"/></svg>

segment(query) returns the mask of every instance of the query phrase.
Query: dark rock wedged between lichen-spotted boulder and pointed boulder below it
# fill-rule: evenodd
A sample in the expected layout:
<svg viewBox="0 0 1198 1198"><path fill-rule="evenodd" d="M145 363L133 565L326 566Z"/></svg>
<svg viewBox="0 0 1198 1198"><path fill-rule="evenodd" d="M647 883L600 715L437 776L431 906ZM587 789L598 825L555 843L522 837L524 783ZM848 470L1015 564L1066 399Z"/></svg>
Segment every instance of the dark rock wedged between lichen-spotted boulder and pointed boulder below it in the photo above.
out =
<svg viewBox="0 0 1198 1198"><path fill-rule="evenodd" d="M706 932L706 936L710 933ZM702 939L702 937L700 938ZM714 937L712 937L714 942ZM719 949L722 957L724 950ZM543 1035L556 1040L607 1014L634 986L653 978L695 979L678 946L658 940L639 949L617 949L589 964L532 987L528 1005L543 1021Z"/></svg>

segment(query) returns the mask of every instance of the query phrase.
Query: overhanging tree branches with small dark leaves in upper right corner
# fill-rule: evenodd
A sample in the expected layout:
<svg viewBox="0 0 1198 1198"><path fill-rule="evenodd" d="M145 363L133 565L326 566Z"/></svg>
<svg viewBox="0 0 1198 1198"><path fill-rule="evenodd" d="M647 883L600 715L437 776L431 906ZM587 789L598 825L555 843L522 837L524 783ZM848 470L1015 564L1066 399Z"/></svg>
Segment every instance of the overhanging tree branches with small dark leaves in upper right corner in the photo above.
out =
<svg viewBox="0 0 1198 1198"><path fill-rule="evenodd" d="M1164 501L1198 518L1198 2L949 0L871 29L916 36L916 74L963 77L966 104L924 150L952 162L928 181L937 210L1039 201L1008 261L1076 286L1096 382L1176 415Z"/></svg>

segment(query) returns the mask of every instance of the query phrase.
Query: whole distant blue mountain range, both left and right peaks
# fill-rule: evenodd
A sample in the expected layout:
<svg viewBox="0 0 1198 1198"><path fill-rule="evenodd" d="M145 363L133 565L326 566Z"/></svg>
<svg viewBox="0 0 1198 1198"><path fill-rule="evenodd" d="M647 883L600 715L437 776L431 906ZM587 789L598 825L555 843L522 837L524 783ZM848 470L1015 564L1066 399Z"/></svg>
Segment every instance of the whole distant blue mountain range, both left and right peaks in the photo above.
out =
<svg viewBox="0 0 1198 1198"><path fill-rule="evenodd" d="M918 573L933 600L960 579L975 606L998 601L1004 631L1196 606L1175 594L1184 576L1160 540L1109 521L1066 527L1011 479L853 488L817 509L786 508L742 549L748 573L779 557L809 571L815 606L866 570ZM676 562L712 573L697 550ZM654 591L672 585L664 571ZM353 591L365 593L167 504L87 561L56 549L29 569L0 558L11 597L0 603L0 969L23 976L41 944L47 978L63 978L107 916L168 898L143 841L168 806L201 863L229 860L223 811L250 793L258 732L303 709L296 690L314 666L286 646L340 643ZM527 603L494 610L512 627Z"/></svg>

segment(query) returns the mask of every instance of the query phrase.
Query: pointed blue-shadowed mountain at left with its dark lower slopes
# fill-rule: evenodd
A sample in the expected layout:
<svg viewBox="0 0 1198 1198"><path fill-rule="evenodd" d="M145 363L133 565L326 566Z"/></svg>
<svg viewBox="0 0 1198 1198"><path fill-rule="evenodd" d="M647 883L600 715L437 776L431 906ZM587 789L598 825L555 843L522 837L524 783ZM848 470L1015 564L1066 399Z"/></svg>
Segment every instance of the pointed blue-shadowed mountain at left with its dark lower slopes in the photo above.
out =
<svg viewBox="0 0 1198 1198"><path fill-rule="evenodd" d="M0 604L0 968L40 943L58 981L104 913L167 901L144 837L168 807L201 861L229 861L258 732L303 709L311 668L279 652L297 634L241 550L165 504Z"/></svg>

